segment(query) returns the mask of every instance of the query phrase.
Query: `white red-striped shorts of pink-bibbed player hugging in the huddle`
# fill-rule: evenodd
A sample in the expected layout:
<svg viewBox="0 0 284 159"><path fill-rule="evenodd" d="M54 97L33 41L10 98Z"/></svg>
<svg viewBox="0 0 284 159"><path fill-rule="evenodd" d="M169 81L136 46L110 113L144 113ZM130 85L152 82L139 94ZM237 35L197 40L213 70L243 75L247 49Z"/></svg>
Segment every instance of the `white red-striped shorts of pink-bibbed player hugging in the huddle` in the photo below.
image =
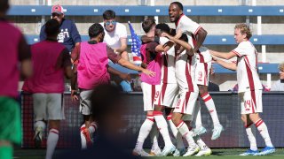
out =
<svg viewBox="0 0 284 159"><path fill-rule="evenodd" d="M141 83L141 88L143 92L143 103L144 111L153 111L154 110L154 98L158 97L159 94L155 94L160 85L150 85L145 82Z"/></svg>

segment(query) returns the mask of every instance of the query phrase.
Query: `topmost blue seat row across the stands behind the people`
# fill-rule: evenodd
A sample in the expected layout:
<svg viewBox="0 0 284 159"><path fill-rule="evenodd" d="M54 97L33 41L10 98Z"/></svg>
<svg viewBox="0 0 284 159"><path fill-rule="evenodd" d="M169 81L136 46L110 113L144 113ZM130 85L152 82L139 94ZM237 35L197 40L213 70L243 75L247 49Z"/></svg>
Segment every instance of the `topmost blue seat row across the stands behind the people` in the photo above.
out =
<svg viewBox="0 0 284 159"><path fill-rule="evenodd" d="M106 10L114 10L118 16L167 16L168 5L112 6L65 5L66 15L101 16ZM186 15L193 16L283 16L284 6L184 6ZM8 13L16 16L51 15L51 6L13 5Z"/></svg>

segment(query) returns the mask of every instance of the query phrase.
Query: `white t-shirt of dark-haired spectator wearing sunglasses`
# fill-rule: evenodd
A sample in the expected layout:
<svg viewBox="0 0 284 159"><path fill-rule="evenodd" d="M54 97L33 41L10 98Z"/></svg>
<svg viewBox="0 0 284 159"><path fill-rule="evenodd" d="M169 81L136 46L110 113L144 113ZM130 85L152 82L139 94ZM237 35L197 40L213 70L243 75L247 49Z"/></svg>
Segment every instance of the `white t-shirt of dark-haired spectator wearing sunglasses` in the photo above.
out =
<svg viewBox="0 0 284 159"><path fill-rule="evenodd" d="M104 23L99 23L102 27L104 27ZM122 38L127 38L127 31L126 27L122 25L122 23L116 22L115 28L113 32L107 32L106 28L105 30L105 37L104 42L112 48L112 49L118 49L122 46L120 40Z"/></svg>

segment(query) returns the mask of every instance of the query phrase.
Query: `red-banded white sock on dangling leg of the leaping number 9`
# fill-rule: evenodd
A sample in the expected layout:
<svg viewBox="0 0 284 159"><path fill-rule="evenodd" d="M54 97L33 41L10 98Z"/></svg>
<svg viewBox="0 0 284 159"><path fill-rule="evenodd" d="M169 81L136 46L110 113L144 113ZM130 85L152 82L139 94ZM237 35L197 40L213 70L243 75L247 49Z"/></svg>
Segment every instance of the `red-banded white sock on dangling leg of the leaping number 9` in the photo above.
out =
<svg viewBox="0 0 284 159"><path fill-rule="evenodd" d="M209 93L206 93L204 95L201 95L201 98L204 101L204 103L207 107L207 110L209 110L209 114L212 118L213 125L219 125L220 122L219 122L219 118L217 116L217 110L215 108L215 104L214 104L214 101L213 101L211 95L209 95Z"/></svg>

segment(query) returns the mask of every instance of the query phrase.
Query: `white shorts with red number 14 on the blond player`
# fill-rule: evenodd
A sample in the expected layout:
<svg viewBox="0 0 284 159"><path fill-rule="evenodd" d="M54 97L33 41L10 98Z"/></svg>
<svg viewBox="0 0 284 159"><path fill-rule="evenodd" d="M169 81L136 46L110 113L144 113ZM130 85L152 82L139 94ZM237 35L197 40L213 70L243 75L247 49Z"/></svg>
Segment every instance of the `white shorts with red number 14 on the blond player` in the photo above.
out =
<svg viewBox="0 0 284 159"><path fill-rule="evenodd" d="M263 90L254 90L239 93L241 97L241 114L263 112Z"/></svg>

